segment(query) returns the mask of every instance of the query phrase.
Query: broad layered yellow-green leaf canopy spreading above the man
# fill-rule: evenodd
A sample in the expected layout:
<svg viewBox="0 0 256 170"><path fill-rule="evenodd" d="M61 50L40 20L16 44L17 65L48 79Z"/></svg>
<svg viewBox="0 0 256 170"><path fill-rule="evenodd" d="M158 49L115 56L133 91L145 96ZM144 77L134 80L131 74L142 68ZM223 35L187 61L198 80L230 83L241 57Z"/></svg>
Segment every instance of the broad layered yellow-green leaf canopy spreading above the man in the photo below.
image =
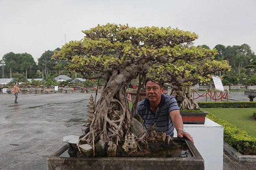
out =
<svg viewBox="0 0 256 170"><path fill-rule="evenodd" d="M210 73L230 69L226 61L213 60L215 49L193 46L198 35L189 31L106 24L82 32L82 40L65 44L54 58L68 60L69 69L90 79L108 80L117 69L131 80L150 69L154 76L167 74L166 81L184 84L204 82Z"/></svg>

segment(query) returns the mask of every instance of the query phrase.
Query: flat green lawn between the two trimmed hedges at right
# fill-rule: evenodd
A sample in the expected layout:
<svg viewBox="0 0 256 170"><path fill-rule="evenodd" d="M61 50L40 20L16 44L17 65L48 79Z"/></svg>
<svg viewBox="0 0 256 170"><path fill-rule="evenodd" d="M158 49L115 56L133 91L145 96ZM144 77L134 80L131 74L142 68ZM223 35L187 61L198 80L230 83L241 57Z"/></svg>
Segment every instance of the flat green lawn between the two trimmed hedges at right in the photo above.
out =
<svg viewBox="0 0 256 170"><path fill-rule="evenodd" d="M245 130L250 136L256 137L256 120L252 119L253 111L256 108L202 108L220 119Z"/></svg>

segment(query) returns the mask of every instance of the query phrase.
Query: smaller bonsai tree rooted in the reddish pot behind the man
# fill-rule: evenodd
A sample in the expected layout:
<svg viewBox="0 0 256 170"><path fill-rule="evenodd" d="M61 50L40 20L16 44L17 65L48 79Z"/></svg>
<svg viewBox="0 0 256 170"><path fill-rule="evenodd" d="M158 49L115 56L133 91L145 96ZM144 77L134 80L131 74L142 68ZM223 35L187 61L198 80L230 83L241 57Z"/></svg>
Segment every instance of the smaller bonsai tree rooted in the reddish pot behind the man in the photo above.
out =
<svg viewBox="0 0 256 170"><path fill-rule="evenodd" d="M202 51L203 54L198 55ZM216 49L205 49L202 46L180 47L175 49L174 53L166 54L175 56L170 57L168 63L154 64L149 69L148 77L169 82L171 95L176 98L181 110L197 110L199 106L193 99L191 86L198 82L210 82L211 74L231 69L226 60L214 60L216 54Z"/></svg>

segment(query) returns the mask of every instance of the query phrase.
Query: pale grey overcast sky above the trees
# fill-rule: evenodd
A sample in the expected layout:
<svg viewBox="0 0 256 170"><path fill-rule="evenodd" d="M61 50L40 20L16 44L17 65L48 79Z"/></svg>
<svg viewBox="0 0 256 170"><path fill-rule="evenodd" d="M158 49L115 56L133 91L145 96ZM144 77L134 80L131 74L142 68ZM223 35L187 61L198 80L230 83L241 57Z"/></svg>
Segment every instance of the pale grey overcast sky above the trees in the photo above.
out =
<svg viewBox="0 0 256 170"><path fill-rule="evenodd" d="M37 62L106 23L178 27L199 35L196 46L245 43L256 52L256 0L0 0L0 23L0 59L26 52Z"/></svg>

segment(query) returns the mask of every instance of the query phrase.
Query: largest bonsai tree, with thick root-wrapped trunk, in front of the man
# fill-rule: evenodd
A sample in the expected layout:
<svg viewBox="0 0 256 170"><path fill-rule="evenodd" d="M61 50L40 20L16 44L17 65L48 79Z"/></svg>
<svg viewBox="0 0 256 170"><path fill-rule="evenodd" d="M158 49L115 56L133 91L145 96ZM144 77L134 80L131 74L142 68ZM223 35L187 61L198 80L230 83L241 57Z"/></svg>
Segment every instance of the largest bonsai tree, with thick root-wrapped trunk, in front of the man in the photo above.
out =
<svg viewBox="0 0 256 170"><path fill-rule="evenodd" d="M192 82L189 75L199 76L201 69L208 69L210 61L212 67L229 68L226 62L213 60L216 50L194 47L198 35L189 31L106 24L82 32L85 34L82 40L66 43L53 58L67 60L67 68L80 72L86 79L106 80L90 131L81 139L93 146L100 139L105 144L111 141L120 145L125 135L132 133L126 86L136 77L139 88L148 73L148 76L168 75L173 86L180 86ZM184 72L184 77L177 76L178 72ZM183 78L187 80L177 83ZM137 139L138 145L144 137Z"/></svg>

